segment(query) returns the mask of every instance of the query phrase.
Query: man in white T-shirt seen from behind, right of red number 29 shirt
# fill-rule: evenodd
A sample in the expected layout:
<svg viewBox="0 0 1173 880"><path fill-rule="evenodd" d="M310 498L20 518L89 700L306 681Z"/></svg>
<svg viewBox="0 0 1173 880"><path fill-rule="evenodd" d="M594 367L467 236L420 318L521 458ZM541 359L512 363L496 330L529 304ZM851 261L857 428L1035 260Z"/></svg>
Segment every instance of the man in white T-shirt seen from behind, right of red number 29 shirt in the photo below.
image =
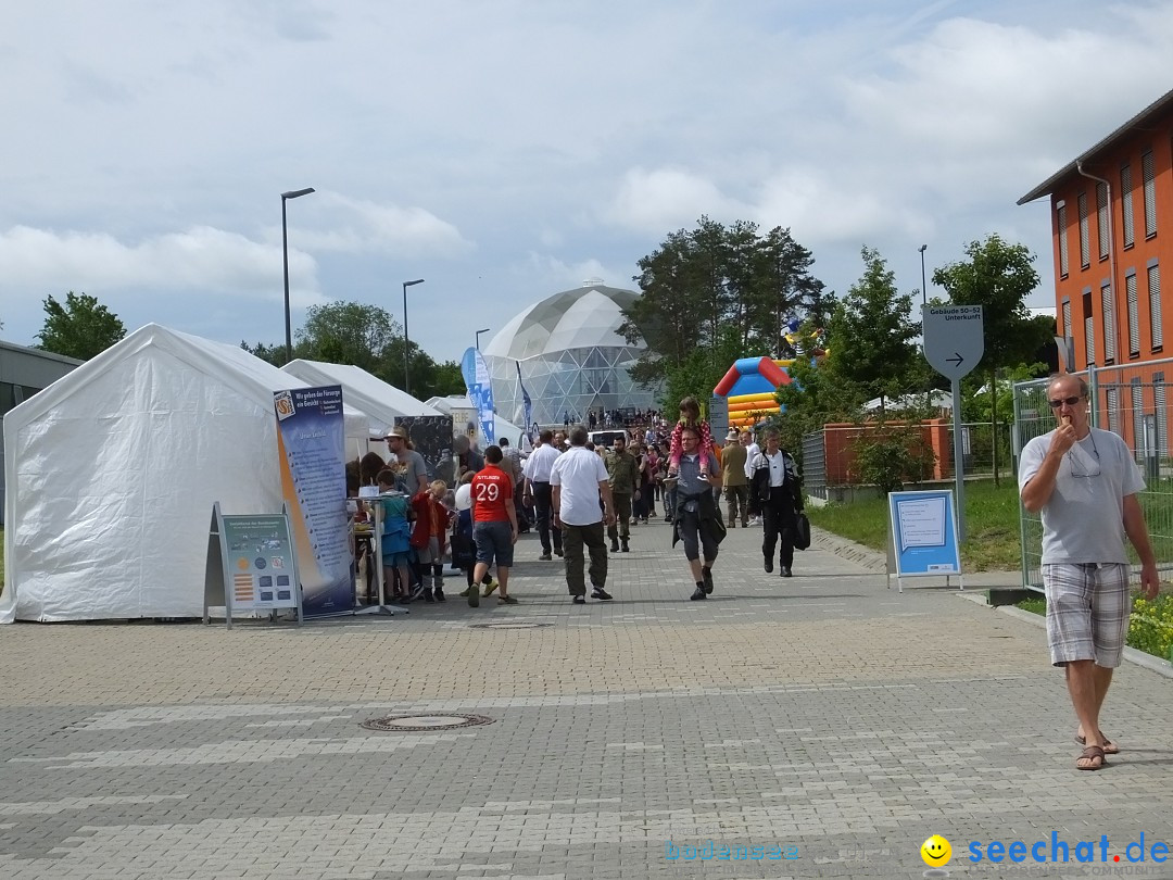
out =
<svg viewBox="0 0 1173 880"><path fill-rule="evenodd" d="M562 529L567 588L576 605L586 602L583 577L583 546L590 551L591 598L609 600L606 587L606 540L604 522L615 522L615 500L603 459L586 448L586 428L570 429L570 448L550 467L554 524ZM604 508L598 506L603 499Z"/></svg>

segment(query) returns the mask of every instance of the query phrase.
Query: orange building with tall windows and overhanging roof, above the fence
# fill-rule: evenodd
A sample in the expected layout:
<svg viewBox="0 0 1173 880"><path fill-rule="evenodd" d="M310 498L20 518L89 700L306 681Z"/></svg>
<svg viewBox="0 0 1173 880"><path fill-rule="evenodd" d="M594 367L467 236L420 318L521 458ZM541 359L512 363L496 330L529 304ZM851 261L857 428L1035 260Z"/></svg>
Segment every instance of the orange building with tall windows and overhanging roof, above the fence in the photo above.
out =
<svg viewBox="0 0 1173 880"><path fill-rule="evenodd" d="M1051 197L1057 332L1070 370L1173 357L1173 92L1018 199ZM1173 278L1167 279L1173 282Z"/></svg>

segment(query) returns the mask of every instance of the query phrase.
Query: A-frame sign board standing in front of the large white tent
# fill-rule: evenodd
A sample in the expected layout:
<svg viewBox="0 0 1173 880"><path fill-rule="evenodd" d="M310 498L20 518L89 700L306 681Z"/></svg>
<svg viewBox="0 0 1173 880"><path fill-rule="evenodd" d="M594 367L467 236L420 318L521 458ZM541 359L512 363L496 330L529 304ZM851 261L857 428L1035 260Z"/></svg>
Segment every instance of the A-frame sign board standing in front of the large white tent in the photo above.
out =
<svg viewBox="0 0 1173 880"><path fill-rule="evenodd" d="M283 608L296 609L301 625L301 580L287 503L279 514L244 515L224 515L219 501L212 505L204 568L205 625L211 623L211 609L221 607L228 629L236 612L267 611L270 622L276 622Z"/></svg>

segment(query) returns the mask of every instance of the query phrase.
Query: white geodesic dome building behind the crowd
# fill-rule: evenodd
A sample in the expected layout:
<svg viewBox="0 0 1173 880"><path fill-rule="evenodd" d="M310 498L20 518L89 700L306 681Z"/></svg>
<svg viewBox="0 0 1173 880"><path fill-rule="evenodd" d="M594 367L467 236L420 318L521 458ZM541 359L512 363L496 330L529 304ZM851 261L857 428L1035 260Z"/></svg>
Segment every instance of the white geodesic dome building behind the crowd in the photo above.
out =
<svg viewBox="0 0 1173 880"><path fill-rule="evenodd" d="M521 384L540 425L582 421L588 409L651 408L656 390L638 387L628 373L643 340L631 345L619 334L623 310L638 296L592 279L514 317L481 351L497 412L526 424Z"/></svg>

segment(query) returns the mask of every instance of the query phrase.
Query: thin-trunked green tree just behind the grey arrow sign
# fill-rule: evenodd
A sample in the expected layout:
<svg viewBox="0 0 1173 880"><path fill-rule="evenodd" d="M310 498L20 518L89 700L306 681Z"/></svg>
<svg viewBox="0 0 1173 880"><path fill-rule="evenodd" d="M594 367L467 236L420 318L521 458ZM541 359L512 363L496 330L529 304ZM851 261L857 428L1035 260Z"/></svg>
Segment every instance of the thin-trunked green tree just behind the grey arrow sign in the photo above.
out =
<svg viewBox="0 0 1173 880"><path fill-rule="evenodd" d="M933 283L944 287L955 305L981 305L985 325L985 353L981 365L991 388L997 387L998 371L1030 364L1042 344L1040 324L1032 321L1026 296L1038 286L1035 255L1023 244L1009 244L998 235L965 245L967 260L933 271ZM1053 326L1053 325L1052 325ZM991 397L992 429L997 433L997 394ZM999 485L997 445L994 483Z"/></svg>

